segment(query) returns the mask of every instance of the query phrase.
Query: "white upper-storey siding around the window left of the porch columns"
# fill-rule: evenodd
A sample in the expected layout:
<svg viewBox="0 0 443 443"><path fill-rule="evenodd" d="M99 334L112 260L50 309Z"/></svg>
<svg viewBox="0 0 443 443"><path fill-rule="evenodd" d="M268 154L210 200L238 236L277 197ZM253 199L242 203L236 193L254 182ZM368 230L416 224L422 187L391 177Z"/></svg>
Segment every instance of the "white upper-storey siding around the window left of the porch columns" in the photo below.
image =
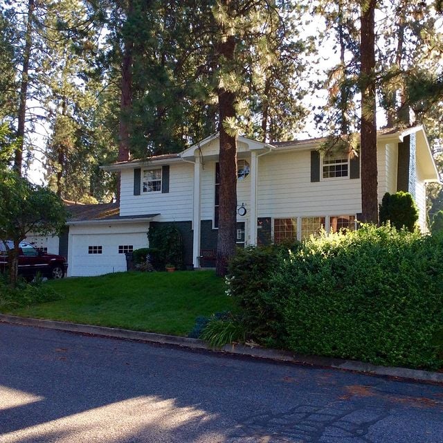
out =
<svg viewBox="0 0 443 443"><path fill-rule="evenodd" d="M120 215L160 213L156 221L192 220L194 166L190 163L170 165L169 192L145 192L134 195L134 170L121 175Z"/></svg>

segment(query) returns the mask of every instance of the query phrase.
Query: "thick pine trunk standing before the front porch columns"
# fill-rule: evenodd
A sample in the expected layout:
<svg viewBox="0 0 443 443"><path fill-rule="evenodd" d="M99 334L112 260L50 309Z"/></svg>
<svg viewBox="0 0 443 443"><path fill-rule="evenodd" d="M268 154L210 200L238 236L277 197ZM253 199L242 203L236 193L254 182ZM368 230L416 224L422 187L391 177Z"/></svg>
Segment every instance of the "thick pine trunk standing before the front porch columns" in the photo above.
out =
<svg viewBox="0 0 443 443"><path fill-rule="evenodd" d="M226 37L219 44L219 56L227 63L234 58L235 37ZM226 118L235 117L235 93L219 88L219 233L217 242L217 275L226 275L228 261L235 254L237 226L237 138L226 132Z"/></svg>

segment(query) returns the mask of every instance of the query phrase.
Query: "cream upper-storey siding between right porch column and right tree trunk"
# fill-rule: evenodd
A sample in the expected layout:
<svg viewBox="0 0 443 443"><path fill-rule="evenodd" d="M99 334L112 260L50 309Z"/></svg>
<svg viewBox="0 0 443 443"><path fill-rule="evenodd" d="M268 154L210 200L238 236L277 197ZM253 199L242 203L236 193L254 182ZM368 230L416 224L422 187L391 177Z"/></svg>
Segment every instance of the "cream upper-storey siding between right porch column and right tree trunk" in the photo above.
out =
<svg viewBox="0 0 443 443"><path fill-rule="evenodd" d="M360 179L311 183L311 152L285 152L258 159L257 217L361 213Z"/></svg>

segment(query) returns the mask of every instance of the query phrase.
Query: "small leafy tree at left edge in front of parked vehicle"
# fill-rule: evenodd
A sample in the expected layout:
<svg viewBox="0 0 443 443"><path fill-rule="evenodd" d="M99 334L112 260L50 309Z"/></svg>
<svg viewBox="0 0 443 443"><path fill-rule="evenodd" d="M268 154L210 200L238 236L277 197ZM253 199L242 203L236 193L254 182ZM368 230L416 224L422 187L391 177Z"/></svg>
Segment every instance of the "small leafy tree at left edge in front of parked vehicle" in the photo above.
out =
<svg viewBox="0 0 443 443"><path fill-rule="evenodd" d="M0 239L12 240L8 253L10 284L17 285L19 244L30 231L57 233L66 224L66 209L51 190L30 183L15 172L0 170Z"/></svg>

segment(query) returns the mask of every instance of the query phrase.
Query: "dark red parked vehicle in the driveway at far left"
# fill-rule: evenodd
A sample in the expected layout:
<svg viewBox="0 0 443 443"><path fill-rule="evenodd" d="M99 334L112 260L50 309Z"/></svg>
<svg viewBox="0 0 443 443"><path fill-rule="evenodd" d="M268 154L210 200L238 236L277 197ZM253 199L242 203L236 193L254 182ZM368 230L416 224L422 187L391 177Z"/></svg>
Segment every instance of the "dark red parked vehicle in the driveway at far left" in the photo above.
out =
<svg viewBox="0 0 443 443"><path fill-rule="evenodd" d="M14 248L10 240L0 240L0 271L8 268L8 249ZM37 272L46 278L63 278L68 269L66 259L61 255L48 254L32 244L20 242L19 275L32 280Z"/></svg>

